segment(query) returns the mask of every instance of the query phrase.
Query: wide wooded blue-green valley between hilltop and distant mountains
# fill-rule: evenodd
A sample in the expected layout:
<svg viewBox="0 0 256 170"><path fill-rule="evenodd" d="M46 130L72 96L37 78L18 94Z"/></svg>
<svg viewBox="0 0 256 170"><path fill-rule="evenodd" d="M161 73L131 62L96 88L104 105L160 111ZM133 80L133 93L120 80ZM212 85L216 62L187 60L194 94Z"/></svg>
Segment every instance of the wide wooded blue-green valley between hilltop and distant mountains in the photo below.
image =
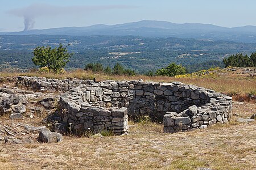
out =
<svg viewBox="0 0 256 170"><path fill-rule="evenodd" d="M117 62L138 73L157 70L175 62L189 72L223 66L231 54L250 54L256 44L177 38L137 36L0 36L0 68L34 67L31 58L36 46L67 46L74 55L66 69L84 68L87 63L113 67Z"/></svg>

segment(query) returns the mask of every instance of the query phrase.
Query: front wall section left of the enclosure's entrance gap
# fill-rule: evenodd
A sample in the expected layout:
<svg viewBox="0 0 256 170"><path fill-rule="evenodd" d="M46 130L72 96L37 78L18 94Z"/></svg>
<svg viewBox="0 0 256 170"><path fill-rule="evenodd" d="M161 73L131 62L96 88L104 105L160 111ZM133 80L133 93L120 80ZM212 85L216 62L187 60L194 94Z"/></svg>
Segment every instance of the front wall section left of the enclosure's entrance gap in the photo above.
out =
<svg viewBox="0 0 256 170"><path fill-rule="evenodd" d="M96 133L102 130L112 130L115 134L128 131L127 108L94 107L88 103L77 103L68 97L60 97L59 107L61 117L75 134L93 130Z"/></svg>

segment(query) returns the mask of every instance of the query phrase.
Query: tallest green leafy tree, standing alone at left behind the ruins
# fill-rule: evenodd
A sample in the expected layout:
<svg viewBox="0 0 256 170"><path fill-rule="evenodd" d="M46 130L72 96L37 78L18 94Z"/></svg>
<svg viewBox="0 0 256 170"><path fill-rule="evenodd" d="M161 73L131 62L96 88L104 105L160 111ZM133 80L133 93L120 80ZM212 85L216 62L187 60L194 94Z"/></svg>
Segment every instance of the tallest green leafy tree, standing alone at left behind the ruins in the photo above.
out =
<svg viewBox="0 0 256 170"><path fill-rule="evenodd" d="M55 73L59 73L73 55L73 53L68 53L67 48L64 48L62 44L53 49L51 46L38 46L33 54L32 61L36 66L40 68L48 67L49 72L53 71Z"/></svg>

